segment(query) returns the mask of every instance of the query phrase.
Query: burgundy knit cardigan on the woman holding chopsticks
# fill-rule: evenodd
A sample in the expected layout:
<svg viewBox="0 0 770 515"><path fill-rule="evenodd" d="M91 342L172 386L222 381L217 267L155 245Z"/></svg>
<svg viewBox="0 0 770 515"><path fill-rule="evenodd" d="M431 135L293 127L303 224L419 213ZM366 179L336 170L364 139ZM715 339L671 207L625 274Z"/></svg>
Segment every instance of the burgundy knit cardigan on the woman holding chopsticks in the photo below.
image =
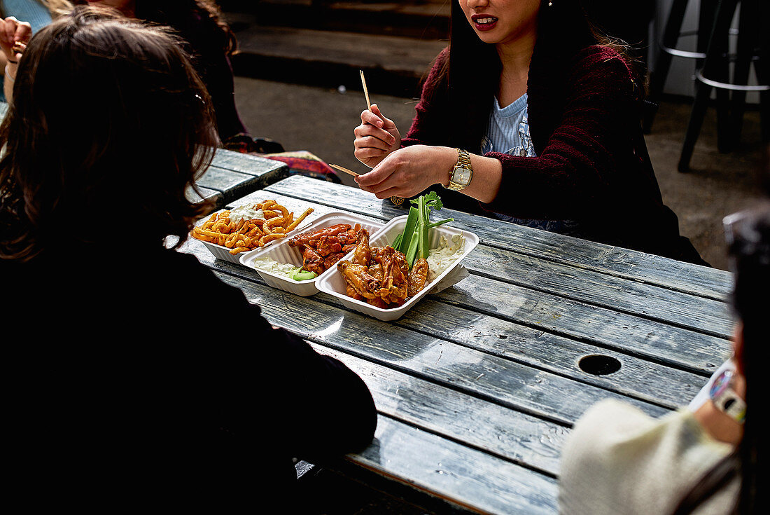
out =
<svg viewBox="0 0 770 515"><path fill-rule="evenodd" d="M457 146L447 135L453 113L444 108L445 87L430 86L446 59L444 49L430 69L402 146ZM485 154L503 164L500 191L490 204L450 190L438 194L450 208L575 220L586 239L706 264L679 235L676 215L663 204L641 133L637 88L628 64L613 49L593 45L569 59L536 45L527 116L537 157Z"/></svg>

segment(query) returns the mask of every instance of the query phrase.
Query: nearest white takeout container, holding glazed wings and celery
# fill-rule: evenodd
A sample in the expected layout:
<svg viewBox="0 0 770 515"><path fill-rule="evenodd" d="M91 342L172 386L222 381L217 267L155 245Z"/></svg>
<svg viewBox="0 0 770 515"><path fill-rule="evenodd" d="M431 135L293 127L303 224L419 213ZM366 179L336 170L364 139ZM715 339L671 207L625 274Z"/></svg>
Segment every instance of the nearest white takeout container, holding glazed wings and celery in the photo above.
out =
<svg viewBox="0 0 770 515"><path fill-rule="evenodd" d="M407 217L408 215L403 215L390 220L382 227L382 229L380 229L380 231L377 231L377 233L370 237L370 246L382 247L384 245L392 244L398 234L403 232L403 227L407 224ZM367 302L358 301L352 297L348 297L346 294L347 283L345 278L343 278L342 274L339 270L337 270L336 267L333 268L331 273L326 271L326 273L320 275L317 278L316 287L324 293L339 298L340 301L350 309L354 309L360 313L370 315L374 318L379 318L380 320L396 320L397 318L400 318L404 313L409 311L413 305L417 304L421 298L427 295L434 285L438 284L444 277L447 276L447 274L453 271L454 268L457 268L457 265L460 264L460 261L462 261L470 253L470 251L474 250L476 245L479 243L479 237L476 234L469 231L460 231L460 229L451 227L449 224L440 225L430 230L430 248L437 247L442 236L446 237L447 240L450 240L457 234L462 234L462 236L465 238L463 253L460 254L460 257L457 258L449 268L441 272L439 275L437 275L437 277L430 281L430 283L425 284L425 288L423 288L417 295L410 298L408 301L404 302L403 305L400 305L397 308L377 308L377 306L367 304ZM345 256L343 259L347 259L349 257L350 254Z"/></svg>

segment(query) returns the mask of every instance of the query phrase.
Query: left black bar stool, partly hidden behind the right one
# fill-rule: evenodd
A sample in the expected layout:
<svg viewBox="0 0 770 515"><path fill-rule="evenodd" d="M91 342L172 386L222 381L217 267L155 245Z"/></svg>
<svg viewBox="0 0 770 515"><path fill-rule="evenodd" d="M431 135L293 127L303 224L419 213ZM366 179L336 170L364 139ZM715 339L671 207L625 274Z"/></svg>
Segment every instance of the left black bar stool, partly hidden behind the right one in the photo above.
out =
<svg viewBox="0 0 770 515"><path fill-rule="evenodd" d="M658 54L655 58L654 69L650 72L648 86L648 109L644 113L642 126L644 133L650 133L655 114L658 112L658 102L668 78L673 58L695 59L695 67L699 68L706 56L708 35L714 23L714 15L718 0L701 0L698 8L698 29L682 31L681 25L685 19L688 0L674 0L668 12L668 19L663 29L663 35L658 42ZM737 33L732 31L731 33ZM695 36L695 52L677 48L682 37ZM726 68L725 68L726 70ZM723 72L725 72L723 70ZM724 99L723 99L724 100Z"/></svg>

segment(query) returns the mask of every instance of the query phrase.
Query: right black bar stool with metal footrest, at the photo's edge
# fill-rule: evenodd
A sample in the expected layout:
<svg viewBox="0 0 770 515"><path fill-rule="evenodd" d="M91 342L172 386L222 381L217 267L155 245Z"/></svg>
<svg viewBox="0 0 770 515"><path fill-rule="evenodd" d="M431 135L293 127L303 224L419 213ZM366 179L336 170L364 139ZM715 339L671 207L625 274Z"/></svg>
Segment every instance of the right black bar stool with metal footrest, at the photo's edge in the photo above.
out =
<svg viewBox="0 0 770 515"><path fill-rule="evenodd" d="M728 54L727 37L735 10L741 5L738 19L738 44L735 55L735 68L730 81L725 75L725 66L731 56ZM738 141L746 93L756 91L760 94L760 116L762 120L762 140L768 142L768 108L770 108L770 76L768 76L768 5L766 0L718 0L711 35L708 39L703 66L695 72L695 101L685 134L685 143L679 158L678 170L686 172L690 167L690 158L698 139L705 117L711 90L731 93L728 113L718 116L717 130L719 150L727 152ZM757 86L747 86L752 64L757 76ZM718 107L723 104L718 100ZM718 113L719 114L719 113Z"/></svg>

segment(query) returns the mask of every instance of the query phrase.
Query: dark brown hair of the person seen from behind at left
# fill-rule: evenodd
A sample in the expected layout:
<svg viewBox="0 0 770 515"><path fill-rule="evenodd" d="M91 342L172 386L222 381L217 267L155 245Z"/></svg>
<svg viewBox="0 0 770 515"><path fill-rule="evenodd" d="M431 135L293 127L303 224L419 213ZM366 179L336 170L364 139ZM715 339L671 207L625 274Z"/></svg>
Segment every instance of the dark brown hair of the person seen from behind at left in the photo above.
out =
<svg viewBox="0 0 770 515"><path fill-rule="evenodd" d="M78 7L36 33L0 126L0 258L73 241L186 239L218 139L206 88L164 29Z"/></svg>

